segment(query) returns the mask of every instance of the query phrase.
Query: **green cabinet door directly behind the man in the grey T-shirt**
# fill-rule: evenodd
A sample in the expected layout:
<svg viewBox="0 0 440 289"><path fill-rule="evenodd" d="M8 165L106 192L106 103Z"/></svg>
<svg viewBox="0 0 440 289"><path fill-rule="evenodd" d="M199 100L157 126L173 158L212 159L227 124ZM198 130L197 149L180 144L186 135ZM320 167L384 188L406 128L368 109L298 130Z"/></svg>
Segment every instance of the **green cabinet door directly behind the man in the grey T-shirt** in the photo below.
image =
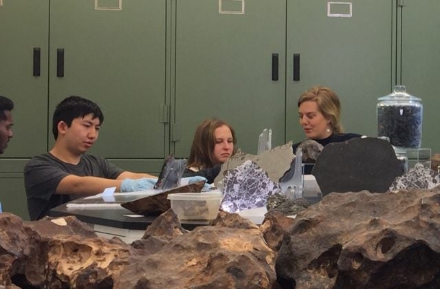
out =
<svg viewBox="0 0 440 289"><path fill-rule="evenodd" d="M50 114L66 96L89 98L104 113L90 153L163 158L166 1L95 3L98 7L89 0L50 1ZM112 3L116 6L101 7ZM60 49L63 76L57 73Z"/></svg>

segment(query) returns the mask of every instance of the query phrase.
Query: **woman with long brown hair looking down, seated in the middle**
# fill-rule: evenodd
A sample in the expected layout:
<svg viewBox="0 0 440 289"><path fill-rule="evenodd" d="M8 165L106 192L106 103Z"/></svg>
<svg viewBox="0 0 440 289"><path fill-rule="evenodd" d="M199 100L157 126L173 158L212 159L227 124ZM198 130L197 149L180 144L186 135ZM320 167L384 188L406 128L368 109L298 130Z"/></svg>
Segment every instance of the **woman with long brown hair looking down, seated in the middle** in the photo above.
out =
<svg viewBox="0 0 440 289"><path fill-rule="evenodd" d="M211 184L221 164L235 153L234 129L223 120L209 118L197 127L184 177L200 175Z"/></svg>

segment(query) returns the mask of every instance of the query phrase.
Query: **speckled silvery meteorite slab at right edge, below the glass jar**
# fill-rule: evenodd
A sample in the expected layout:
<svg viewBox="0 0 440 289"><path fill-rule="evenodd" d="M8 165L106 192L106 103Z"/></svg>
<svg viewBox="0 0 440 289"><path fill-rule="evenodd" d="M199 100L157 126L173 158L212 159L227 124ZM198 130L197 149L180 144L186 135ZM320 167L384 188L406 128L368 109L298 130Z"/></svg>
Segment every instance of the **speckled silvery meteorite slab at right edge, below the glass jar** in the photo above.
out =
<svg viewBox="0 0 440 289"><path fill-rule="evenodd" d="M398 177L390 186L390 191L408 190L411 188L432 189L440 184L440 175L437 171L415 164L408 173Z"/></svg>

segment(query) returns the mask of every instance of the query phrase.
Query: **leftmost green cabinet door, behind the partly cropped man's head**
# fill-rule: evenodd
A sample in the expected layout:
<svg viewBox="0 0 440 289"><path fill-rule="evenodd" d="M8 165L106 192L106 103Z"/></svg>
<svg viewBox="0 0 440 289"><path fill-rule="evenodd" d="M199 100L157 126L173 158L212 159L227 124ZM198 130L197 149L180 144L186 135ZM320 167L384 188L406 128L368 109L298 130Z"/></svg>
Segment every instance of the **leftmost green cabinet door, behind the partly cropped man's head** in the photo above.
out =
<svg viewBox="0 0 440 289"><path fill-rule="evenodd" d="M14 101L14 137L0 158L30 158L47 150L47 28L45 0L5 0L0 6L0 95ZM34 48L36 70L34 75ZM39 51L40 56L37 55Z"/></svg>

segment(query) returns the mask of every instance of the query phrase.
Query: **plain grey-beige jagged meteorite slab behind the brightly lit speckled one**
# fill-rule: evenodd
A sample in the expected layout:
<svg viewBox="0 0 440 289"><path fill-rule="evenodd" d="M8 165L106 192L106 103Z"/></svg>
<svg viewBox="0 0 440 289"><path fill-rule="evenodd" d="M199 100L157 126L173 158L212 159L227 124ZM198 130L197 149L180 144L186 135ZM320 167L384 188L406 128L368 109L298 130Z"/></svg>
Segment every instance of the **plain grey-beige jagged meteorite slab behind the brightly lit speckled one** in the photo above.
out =
<svg viewBox="0 0 440 289"><path fill-rule="evenodd" d="M258 164L259 167L267 172L267 175L269 175L272 182L278 182L285 172L290 169L290 164L294 158L292 142L288 142L279 147L274 147L273 149L264 151L257 156L238 151L234 156L230 157L229 160L221 165L220 173L217 175L217 178L215 178L214 184L219 189L222 189L223 182L221 182L221 180L223 180L225 171L238 167L246 160L252 160L252 162Z"/></svg>

